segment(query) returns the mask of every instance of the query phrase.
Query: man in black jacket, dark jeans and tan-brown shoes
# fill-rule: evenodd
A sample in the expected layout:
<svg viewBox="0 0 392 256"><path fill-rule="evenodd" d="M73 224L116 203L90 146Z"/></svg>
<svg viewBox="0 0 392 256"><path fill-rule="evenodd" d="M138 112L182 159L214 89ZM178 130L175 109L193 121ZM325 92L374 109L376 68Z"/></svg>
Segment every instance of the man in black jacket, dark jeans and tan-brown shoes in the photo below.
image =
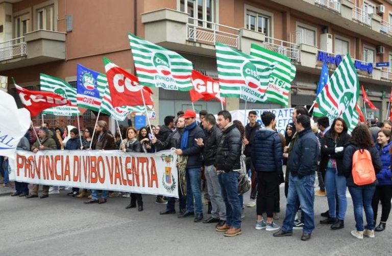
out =
<svg viewBox="0 0 392 256"><path fill-rule="evenodd" d="M242 138L237 127L231 121L229 111L223 110L218 113L218 126L223 132L216 150L214 165L220 173L218 178L226 204L226 224L216 227L216 231L225 232L226 237L233 237L242 233L242 209L238 197Z"/></svg>

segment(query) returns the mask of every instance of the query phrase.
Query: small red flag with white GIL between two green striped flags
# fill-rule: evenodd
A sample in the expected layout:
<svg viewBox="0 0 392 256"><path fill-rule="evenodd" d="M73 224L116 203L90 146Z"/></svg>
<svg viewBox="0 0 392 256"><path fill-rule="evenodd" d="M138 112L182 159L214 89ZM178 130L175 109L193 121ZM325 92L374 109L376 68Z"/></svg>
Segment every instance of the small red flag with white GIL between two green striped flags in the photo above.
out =
<svg viewBox="0 0 392 256"><path fill-rule="evenodd" d="M189 95L192 102L198 101L201 98L204 98L204 100L216 98L219 101L225 102L220 97L218 81L196 70L192 70L191 81L193 89L189 91Z"/></svg>

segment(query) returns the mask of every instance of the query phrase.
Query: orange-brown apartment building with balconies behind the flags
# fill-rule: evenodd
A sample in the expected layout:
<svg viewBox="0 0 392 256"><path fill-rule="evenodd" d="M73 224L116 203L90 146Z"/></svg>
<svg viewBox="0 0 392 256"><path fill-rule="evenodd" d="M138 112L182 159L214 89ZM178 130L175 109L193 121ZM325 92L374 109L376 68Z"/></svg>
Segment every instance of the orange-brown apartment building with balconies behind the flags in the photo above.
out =
<svg viewBox="0 0 392 256"><path fill-rule="evenodd" d="M244 53L251 43L281 53L297 67L291 106L311 105L323 61L330 73L350 54L360 84L379 108L369 115L385 118L392 71L392 1L376 0L0 0L0 75L30 89L39 73L76 85L80 63L104 72L102 57L134 71L127 32L192 61L195 69L217 78L214 44ZM187 92L154 88L156 119L191 108ZM229 98L228 110L246 103ZM217 101L198 101L195 109L220 110ZM247 108L280 108L247 104ZM96 113L87 111L84 123ZM39 122L40 117L37 117ZM45 116L54 123L74 118ZM60 121L59 121L60 120Z"/></svg>

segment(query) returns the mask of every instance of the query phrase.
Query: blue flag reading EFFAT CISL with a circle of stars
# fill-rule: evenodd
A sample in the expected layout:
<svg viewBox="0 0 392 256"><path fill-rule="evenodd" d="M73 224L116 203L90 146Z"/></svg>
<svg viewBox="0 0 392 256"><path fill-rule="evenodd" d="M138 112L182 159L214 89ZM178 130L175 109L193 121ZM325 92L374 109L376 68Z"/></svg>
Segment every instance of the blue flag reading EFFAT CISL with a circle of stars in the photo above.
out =
<svg viewBox="0 0 392 256"><path fill-rule="evenodd" d="M97 88L99 73L80 64L78 64L77 70L78 107L99 111L102 100L102 95Z"/></svg>

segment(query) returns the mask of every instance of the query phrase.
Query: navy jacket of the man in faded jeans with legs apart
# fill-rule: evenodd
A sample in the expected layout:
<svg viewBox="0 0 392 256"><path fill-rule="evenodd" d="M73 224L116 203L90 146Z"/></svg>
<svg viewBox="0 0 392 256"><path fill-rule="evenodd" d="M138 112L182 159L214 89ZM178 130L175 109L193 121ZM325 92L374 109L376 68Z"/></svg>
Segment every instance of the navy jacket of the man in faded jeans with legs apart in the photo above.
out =
<svg viewBox="0 0 392 256"><path fill-rule="evenodd" d="M293 146L288 156L288 164L290 173L302 178L306 175L315 174L317 171L320 148L310 127L299 132L297 136L298 142Z"/></svg>

